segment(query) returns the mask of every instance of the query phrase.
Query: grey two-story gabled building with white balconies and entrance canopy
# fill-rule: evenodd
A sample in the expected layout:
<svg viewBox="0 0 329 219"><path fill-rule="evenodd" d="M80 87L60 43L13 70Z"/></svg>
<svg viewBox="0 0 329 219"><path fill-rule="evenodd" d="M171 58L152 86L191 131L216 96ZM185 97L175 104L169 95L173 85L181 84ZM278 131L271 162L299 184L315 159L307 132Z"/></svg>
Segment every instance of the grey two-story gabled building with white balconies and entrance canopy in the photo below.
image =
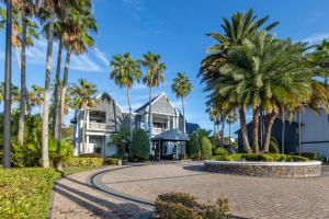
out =
<svg viewBox="0 0 329 219"><path fill-rule="evenodd" d="M134 128L151 131L150 154L161 159L179 159L184 155L184 141L188 137L183 134L184 120L180 111L164 93L151 100L151 127L148 127L148 111L149 103L146 103L137 108L132 117ZM82 153L83 113L82 110L76 111L71 120L76 155ZM87 152L99 152L103 157L115 154L117 149L111 143L111 136L122 127L129 128L128 113L124 112L112 96L103 93L97 96L97 104L86 114Z"/></svg>

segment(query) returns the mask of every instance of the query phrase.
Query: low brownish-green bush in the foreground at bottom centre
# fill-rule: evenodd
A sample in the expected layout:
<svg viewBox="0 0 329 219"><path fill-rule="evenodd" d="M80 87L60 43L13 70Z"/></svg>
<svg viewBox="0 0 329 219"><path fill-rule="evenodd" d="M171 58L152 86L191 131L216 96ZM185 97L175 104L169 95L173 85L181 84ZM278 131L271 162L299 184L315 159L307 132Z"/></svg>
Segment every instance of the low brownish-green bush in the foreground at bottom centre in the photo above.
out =
<svg viewBox="0 0 329 219"><path fill-rule="evenodd" d="M189 194L168 193L156 200L156 214L163 219L222 219L228 218L228 210L226 198L205 205Z"/></svg>

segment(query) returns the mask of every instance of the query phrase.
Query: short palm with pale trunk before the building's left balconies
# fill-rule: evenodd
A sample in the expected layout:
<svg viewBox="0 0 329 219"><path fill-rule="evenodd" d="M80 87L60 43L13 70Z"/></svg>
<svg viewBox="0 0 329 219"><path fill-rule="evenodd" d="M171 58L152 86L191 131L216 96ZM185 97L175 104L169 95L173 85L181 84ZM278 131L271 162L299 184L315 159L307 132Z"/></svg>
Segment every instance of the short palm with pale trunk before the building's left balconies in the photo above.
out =
<svg viewBox="0 0 329 219"><path fill-rule="evenodd" d="M82 122L82 152L87 153L86 147L86 120L87 110L93 106L93 95L98 92L95 84L89 83L86 79L79 79L78 84L73 83L71 88L71 95L73 96L73 105L83 111Z"/></svg>

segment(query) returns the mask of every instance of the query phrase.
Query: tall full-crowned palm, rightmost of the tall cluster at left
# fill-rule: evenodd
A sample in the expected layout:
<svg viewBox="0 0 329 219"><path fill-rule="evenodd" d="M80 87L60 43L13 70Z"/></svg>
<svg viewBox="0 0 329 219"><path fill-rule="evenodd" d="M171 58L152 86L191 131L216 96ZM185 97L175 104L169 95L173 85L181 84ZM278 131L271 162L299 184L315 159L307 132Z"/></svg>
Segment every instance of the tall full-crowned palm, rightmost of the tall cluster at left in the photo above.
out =
<svg viewBox="0 0 329 219"><path fill-rule="evenodd" d="M89 35L90 32L97 33L97 21L91 14L91 4L87 0L87 3L81 1L78 8L71 10L71 15L67 19L65 23L65 28L63 30L63 43L67 49L65 68L64 68L64 78L63 78L63 88L60 92L60 100L58 106L58 118L56 122L57 128L57 139L61 140L61 123L65 113L65 101L66 93L68 89L68 73L70 65L71 54L80 55L87 53L88 48L94 46L93 38ZM71 20L70 18L75 18ZM73 33L73 34L72 34Z"/></svg>

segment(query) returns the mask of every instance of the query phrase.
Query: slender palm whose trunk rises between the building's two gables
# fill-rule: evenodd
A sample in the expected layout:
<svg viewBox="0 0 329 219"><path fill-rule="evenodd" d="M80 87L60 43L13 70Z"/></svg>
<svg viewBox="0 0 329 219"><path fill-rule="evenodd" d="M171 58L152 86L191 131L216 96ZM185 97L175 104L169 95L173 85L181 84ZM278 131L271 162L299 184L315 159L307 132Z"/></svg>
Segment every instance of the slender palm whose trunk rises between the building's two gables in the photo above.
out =
<svg viewBox="0 0 329 219"><path fill-rule="evenodd" d="M120 88L125 87L127 89L127 100L129 107L129 130L131 136L129 140L133 140L133 119L132 119L132 103L131 103L131 89L135 82L138 82L141 77L140 65L137 60L132 59L129 53L125 53L124 55L114 55L110 65L112 66L112 70L110 73L110 78L114 80L114 82L120 85ZM129 154L131 154L131 146L129 146Z"/></svg>

